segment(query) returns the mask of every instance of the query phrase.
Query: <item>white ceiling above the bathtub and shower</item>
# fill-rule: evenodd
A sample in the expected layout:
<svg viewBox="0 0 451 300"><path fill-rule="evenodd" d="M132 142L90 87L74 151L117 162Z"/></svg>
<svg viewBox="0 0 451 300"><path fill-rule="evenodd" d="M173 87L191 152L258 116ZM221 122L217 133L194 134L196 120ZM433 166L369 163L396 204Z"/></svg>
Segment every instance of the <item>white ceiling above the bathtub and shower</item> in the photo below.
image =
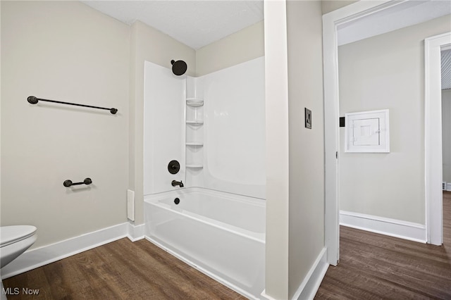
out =
<svg viewBox="0 0 451 300"><path fill-rule="evenodd" d="M263 20L263 0L82 1L123 23L136 20L193 49Z"/></svg>

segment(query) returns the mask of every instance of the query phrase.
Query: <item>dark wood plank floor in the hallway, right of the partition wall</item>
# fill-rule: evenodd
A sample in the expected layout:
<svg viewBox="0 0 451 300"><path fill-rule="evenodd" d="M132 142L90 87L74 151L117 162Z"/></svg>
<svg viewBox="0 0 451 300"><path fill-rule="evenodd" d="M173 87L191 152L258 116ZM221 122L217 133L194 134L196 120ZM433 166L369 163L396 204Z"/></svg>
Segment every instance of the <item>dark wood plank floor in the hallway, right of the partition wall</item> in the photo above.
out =
<svg viewBox="0 0 451 300"><path fill-rule="evenodd" d="M315 299L451 299L451 192L443 192L443 246L340 228L340 263Z"/></svg>

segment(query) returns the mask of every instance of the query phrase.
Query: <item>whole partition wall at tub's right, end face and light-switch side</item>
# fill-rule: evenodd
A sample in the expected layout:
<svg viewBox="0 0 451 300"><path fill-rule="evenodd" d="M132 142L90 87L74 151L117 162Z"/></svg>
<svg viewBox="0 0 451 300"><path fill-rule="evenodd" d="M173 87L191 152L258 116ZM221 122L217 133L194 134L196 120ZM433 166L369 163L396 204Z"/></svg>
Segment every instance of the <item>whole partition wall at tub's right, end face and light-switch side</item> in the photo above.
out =
<svg viewBox="0 0 451 300"><path fill-rule="evenodd" d="M265 2L266 294L274 299L295 295L324 247L321 15L319 1Z"/></svg>

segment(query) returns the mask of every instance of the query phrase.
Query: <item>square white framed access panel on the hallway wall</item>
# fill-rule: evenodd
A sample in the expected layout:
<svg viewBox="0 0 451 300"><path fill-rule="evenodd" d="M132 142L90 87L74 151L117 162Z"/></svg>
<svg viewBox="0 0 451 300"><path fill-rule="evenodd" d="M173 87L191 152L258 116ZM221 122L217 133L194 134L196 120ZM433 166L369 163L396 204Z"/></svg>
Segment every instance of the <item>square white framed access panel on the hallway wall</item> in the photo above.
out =
<svg viewBox="0 0 451 300"><path fill-rule="evenodd" d="M390 152L388 109L345 113L345 152Z"/></svg>

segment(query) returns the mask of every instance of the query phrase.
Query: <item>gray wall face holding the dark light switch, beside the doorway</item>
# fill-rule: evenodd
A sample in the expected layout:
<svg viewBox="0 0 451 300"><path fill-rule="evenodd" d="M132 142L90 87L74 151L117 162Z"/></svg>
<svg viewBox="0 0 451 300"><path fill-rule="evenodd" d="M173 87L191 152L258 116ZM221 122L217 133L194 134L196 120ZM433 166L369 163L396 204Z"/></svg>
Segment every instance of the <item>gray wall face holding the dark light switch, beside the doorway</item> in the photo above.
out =
<svg viewBox="0 0 451 300"><path fill-rule="evenodd" d="M324 247L322 28L319 1L287 2L290 298ZM311 110L311 129L304 126L304 108Z"/></svg>

